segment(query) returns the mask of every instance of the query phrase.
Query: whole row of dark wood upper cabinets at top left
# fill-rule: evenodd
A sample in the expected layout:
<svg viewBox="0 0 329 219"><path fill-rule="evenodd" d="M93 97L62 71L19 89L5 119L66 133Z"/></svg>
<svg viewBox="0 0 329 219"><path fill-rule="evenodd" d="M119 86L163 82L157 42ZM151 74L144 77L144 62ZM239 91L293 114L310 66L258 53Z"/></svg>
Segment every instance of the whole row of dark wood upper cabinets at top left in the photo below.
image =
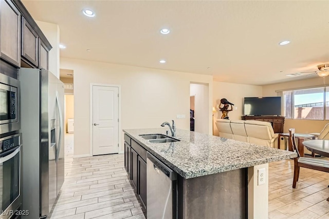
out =
<svg viewBox="0 0 329 219"><path fill-rule="evenodd" d="M18 68L49 70L46 36L20 0L0 0L0 70L18 78Z"/></svg>

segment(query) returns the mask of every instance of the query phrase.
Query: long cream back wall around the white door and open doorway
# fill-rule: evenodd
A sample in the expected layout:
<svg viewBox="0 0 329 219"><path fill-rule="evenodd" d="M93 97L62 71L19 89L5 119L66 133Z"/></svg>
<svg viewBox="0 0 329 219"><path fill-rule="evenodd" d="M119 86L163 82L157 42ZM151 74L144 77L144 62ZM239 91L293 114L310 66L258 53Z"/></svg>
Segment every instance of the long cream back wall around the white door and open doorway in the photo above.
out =
<svg viewBox="0 0 329 219"><path fill-rule="evenodd" d="M190 83L209 84L208 126L212 119L212 76L118 64L61 58L61 68L74 70L75 156L89 155L90 83L121 85L121 127L160 127L176 122L177 129L190 129ZM185 119L176 119L185 114ZM123 151L121 133L120 151Z"/></svg>

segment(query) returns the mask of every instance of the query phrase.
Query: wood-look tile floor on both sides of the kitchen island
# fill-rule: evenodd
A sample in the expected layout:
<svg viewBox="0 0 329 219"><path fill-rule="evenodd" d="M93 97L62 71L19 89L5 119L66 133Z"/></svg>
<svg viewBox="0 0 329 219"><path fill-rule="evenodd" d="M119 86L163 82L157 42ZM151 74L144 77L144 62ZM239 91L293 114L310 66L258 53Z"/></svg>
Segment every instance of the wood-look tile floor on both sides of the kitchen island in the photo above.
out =
<svg viewBox="0 0 329 219"><path fill-rule="evenodd" d="M65 181L49 218L145 218L123 162L123 154L73 158L66 134ZM269 163L268 218L329 219L329 173L301 168L296 189L293 174L291 159Z"/></svg>

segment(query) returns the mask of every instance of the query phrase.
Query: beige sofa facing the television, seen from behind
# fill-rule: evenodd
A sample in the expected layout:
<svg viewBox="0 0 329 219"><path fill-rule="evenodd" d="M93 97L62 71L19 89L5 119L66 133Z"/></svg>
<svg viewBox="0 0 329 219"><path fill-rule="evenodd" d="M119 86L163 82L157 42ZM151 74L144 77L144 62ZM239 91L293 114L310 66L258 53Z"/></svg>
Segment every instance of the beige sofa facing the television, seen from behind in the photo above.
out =
<svg viewBox="0 0 329 219"><path fill-rule="evenodd" d="M269 122L256 120L217 119L220 137L277 148L278 134Z"/></svg>

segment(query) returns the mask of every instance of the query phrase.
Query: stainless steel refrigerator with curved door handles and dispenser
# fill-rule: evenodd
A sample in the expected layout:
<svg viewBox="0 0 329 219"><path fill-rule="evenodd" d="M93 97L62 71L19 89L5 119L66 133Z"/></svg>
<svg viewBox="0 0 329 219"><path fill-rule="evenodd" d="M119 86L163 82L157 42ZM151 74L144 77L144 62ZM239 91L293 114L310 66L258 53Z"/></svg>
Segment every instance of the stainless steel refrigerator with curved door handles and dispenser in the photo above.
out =
<svg viewBox="0 0 329 219"><path fill-rule="evenodd" d="M23 218L49 214L64 182L64 84L48 70L21 68Z"/></svg>

